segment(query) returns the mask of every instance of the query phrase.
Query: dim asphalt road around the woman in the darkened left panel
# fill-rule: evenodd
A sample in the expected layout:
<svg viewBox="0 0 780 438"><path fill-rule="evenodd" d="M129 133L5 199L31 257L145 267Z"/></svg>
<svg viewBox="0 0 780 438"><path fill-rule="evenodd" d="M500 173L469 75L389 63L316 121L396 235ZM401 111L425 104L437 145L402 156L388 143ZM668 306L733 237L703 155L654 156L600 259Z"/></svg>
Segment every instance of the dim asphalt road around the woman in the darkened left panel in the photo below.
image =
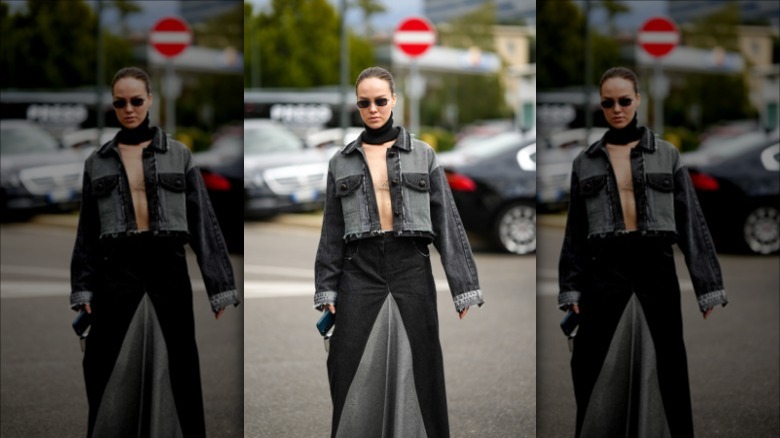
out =
<svg viewBox="0 0 780 438"><path fill-rule="evenodd" d="M75 222L0 226L0 436L83 437L82 353L69 309ZM243 437L243 308L215 320L188 255L209 437ZM239 285L243 259L232 257ZM241 290L241 286L239 286Z"/></svg>

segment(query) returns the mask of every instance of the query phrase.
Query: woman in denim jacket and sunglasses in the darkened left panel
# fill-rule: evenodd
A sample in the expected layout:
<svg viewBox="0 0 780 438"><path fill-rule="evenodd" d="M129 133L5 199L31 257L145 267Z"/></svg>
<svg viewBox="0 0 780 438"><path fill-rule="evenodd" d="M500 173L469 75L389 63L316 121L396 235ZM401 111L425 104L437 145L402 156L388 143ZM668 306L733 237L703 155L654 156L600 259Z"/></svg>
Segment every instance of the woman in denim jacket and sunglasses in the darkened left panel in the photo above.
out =
<svg viewBox="0 0 780 438"><path fill-rule="evenodd" d="M203 437L184 244L217 318L239 304L232 267L189 150L149 126L149 76L123 68L112 93L121 130L87 158L71 262L71 307L92 320L87 435Z"/></svg>

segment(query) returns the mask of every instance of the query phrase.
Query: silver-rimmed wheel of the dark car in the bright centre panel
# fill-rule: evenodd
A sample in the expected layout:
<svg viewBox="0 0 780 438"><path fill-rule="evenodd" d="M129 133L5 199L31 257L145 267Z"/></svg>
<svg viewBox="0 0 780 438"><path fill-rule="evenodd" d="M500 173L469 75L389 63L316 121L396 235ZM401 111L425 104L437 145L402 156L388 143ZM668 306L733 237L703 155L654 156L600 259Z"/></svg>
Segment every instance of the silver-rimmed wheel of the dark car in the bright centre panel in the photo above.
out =
<svg viewBox="0 0 780 438"><path fill-rule="evenodd" d="M493 227L496 243L513 254L536 251L536 208L521 202L504 207Z"/></svg>

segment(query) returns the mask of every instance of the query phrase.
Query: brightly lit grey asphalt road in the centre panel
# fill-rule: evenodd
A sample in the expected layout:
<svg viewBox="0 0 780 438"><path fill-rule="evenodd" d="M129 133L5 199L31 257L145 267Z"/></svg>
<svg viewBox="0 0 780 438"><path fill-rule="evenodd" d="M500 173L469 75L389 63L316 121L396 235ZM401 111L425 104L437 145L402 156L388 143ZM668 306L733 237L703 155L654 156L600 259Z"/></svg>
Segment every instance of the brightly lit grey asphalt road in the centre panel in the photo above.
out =
<svg viewBox="0 0 780 438"><path fill-rule="evenodd" d="M312 304L319 228L248 222L244 229L246 434L328 436L327 354ZM535 259L475 256L486 304L463 320L432 259L452 437L534 437Z"/></svg>

